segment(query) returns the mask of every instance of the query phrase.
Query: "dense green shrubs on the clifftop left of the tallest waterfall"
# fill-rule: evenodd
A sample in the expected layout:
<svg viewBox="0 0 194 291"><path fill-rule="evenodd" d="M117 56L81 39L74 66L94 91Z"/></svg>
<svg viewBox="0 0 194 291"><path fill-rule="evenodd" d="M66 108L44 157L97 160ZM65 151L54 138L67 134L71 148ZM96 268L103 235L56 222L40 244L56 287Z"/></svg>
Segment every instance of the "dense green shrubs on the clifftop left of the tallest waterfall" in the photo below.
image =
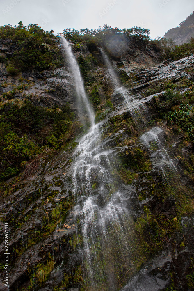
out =
<svg viewBox="0 0 194 291"><path fill-rule="evenodd" d="M25 70L47 70L58 68L63 57L57 47L57 37L53 31L44 31L37 24L23 26L4 25L0 27L0 41L10 40L13 53L1 56L0 61L7 64L10 75Z"/></svg>

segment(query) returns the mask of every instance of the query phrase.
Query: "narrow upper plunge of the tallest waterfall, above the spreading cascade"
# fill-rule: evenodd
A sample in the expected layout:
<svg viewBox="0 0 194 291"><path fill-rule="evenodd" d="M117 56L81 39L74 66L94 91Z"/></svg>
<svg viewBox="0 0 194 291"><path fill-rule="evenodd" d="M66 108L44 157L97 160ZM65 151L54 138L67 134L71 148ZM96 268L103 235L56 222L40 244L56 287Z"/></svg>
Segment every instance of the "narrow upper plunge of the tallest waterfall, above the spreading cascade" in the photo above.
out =
<svg viewBox="0 0 194 291"><path fill-rule="evenodd" d="M88 98L84 89L83 79L81 77L79 65L72 52L71 45L69 44L69 42L63 36L61 37L61 39L62 39L63 47L65 49L65 53L67 55L68 64L70 66L70 69L74 78L79 113L81 116L83 116L84 111L86 111L90 119L91 125L94 126L95 116L94 116L94 112L90 106L90 102L88 101Z"/></svg>

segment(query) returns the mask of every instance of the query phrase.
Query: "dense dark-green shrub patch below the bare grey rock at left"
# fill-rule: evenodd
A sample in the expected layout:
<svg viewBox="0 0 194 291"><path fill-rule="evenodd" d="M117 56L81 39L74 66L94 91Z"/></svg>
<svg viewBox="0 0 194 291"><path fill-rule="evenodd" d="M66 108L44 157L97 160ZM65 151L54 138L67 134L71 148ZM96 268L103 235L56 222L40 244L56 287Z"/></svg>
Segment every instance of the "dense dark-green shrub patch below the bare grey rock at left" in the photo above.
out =
<svg viewBox="0 0 194 291"><path fill-rule="evenodd" d="M4 105L0 119L1 179L15 175L21 162L34 159L45 147L57 150L72 128L74 113L68 105L60 111L33 105Z"/></svg>

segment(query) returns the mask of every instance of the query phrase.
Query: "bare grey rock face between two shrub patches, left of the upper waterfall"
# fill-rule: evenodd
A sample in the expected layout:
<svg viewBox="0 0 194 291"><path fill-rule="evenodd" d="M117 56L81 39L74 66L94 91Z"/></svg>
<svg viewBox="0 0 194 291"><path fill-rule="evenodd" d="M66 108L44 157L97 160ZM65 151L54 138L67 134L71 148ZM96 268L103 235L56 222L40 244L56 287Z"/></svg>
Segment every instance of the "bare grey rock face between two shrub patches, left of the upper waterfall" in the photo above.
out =
<svg viewBox="0 0 194 291"><path fill-rule="evenodd" d="M18 77L9 77L2 70L4 78L2 82L11 82L19 85ZM44 107L52 107L55 104L58 106L70 104L72 110L77 109L76 93L74 91L74 84L71 74L67 67L58 68L53 71L22 73L22 77L32 81L33 86L26 90L29 95L29 100L33 104ZM10 91L10 86L1 89L1 94ZM22 99L22 93L17 93L15 98Z"/></svg>

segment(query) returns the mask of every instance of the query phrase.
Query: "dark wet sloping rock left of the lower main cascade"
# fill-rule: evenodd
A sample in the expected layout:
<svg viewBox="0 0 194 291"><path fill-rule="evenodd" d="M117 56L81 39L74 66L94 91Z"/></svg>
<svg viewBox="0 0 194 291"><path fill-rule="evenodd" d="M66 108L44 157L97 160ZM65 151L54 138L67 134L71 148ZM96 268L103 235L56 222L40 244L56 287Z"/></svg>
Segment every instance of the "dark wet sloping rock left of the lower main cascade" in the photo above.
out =
<svg viewBox="0 0 194 291"><path fill-rule="evenodd" d="M43 236L41 241L36 243L35 246L31 246L30 248L27 247L27 244L29 243L29 233L34 236L37 231L38 236L38 231L41 229L41 224L44 220L45 214L49 213L53 207L55 207L55 202L48 201L47 197L52 195L51 193L57 191L58 195L54 197L54 200L60 203L67 197L67 194L65 194L67 192L66 189L72 188L72 183L67 178L71 173L71 169L67 170L64 167L64 164L67 164L68 168L68 158L66 158L67 154L64 156L64 153L62 153L62 155L55 158L45 167L45 172L44 169L42 169L41 173L37 173L31 181L26 181L23 187L21 187L21 190L11 195L9 197L11 204L1 204L1 212L5 213L4 209L8 207L8 212L6 212L7 219L14 215L18 224L19 220L22 218L21 214L19 214L22 210L24 210L25 217L28 217L28 214L30 214L29 220L24 222L20 229L17 227L16 229L10 228L12 236L10 238L9 248L13 253L13 258L16 255L14 254L15 250L20 244L22 244L25 249L23 254L15 261L15 265L10 271L10 290L16 290L20 287L22 284L22 277L27 276L29 268L33 269L37 264L45 262L48 253L54 255L53 258L56 260L57 265L60 265L63 258L68 255L68 244L65 243L62 247L61 242L68 241L68 237L73 236L75 233L75 225L71 212L65 216L65 224L63 222L63 224L56 225L51 235L46 239L44 239ZM53 168L56 165L59 166L60 163L62 163L61 168L59 167L57 170L53 171ZM66 177L63 174L64 170L67 174ZM57 182L59 180L61 182ZM42 181L44 181L44 183L42 183ZM53 183L59 186L54 185ZM43 190L45 189L44 186L47 188L46 191ZM39 190L41 191L40 193L38 193ZM30 200L32 200L32 203ZM44 203L44 201L46 203ZM45 204L43 208L41 206L42 202ZM10 207L11 205L14 205L14 208ZM3 249L4 245L1 244L1 261L3 260ZM69 268L72 268L78 260L80 260L80 255L74 255L74 258L71 258L69 261ZM61 271L58 270L57 277L54 274L51 275L51 280L48 285L52 285L54 282L55 284L60 283L64 277L64 272L66 271L67 269L64 269L63 267ZM60 272L61 276L59 276ZM28 276L26 278L28 278ZM3 282L1 282L1 290L6 290Z"/></svg>

